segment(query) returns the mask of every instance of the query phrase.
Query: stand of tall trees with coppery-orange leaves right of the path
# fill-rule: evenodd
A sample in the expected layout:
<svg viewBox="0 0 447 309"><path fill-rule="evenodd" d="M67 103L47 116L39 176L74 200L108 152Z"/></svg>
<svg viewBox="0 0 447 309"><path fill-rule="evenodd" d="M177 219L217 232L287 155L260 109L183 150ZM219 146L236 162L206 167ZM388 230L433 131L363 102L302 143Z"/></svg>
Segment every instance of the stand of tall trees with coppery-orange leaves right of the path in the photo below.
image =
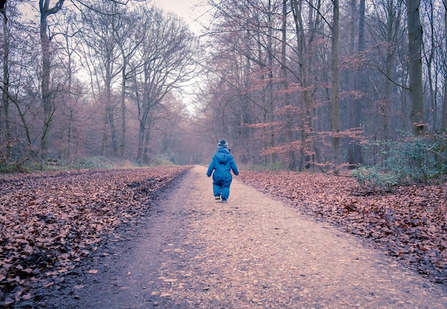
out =
<svg viewBox="0 0 447 309"><path fill-rule="evenodd" d="M214 136L229 135L240 146L258 141L238 149L246 163L292 169L381 164L387 141L446 129L440 92L445 50L438 49L446 46L446 35L439 35L445 6L394 0L209 3L216 11L209 29L214 77L204 111L214 108L206 113L214 119ZM228 131L230 123L235 129Z"/></svg>

